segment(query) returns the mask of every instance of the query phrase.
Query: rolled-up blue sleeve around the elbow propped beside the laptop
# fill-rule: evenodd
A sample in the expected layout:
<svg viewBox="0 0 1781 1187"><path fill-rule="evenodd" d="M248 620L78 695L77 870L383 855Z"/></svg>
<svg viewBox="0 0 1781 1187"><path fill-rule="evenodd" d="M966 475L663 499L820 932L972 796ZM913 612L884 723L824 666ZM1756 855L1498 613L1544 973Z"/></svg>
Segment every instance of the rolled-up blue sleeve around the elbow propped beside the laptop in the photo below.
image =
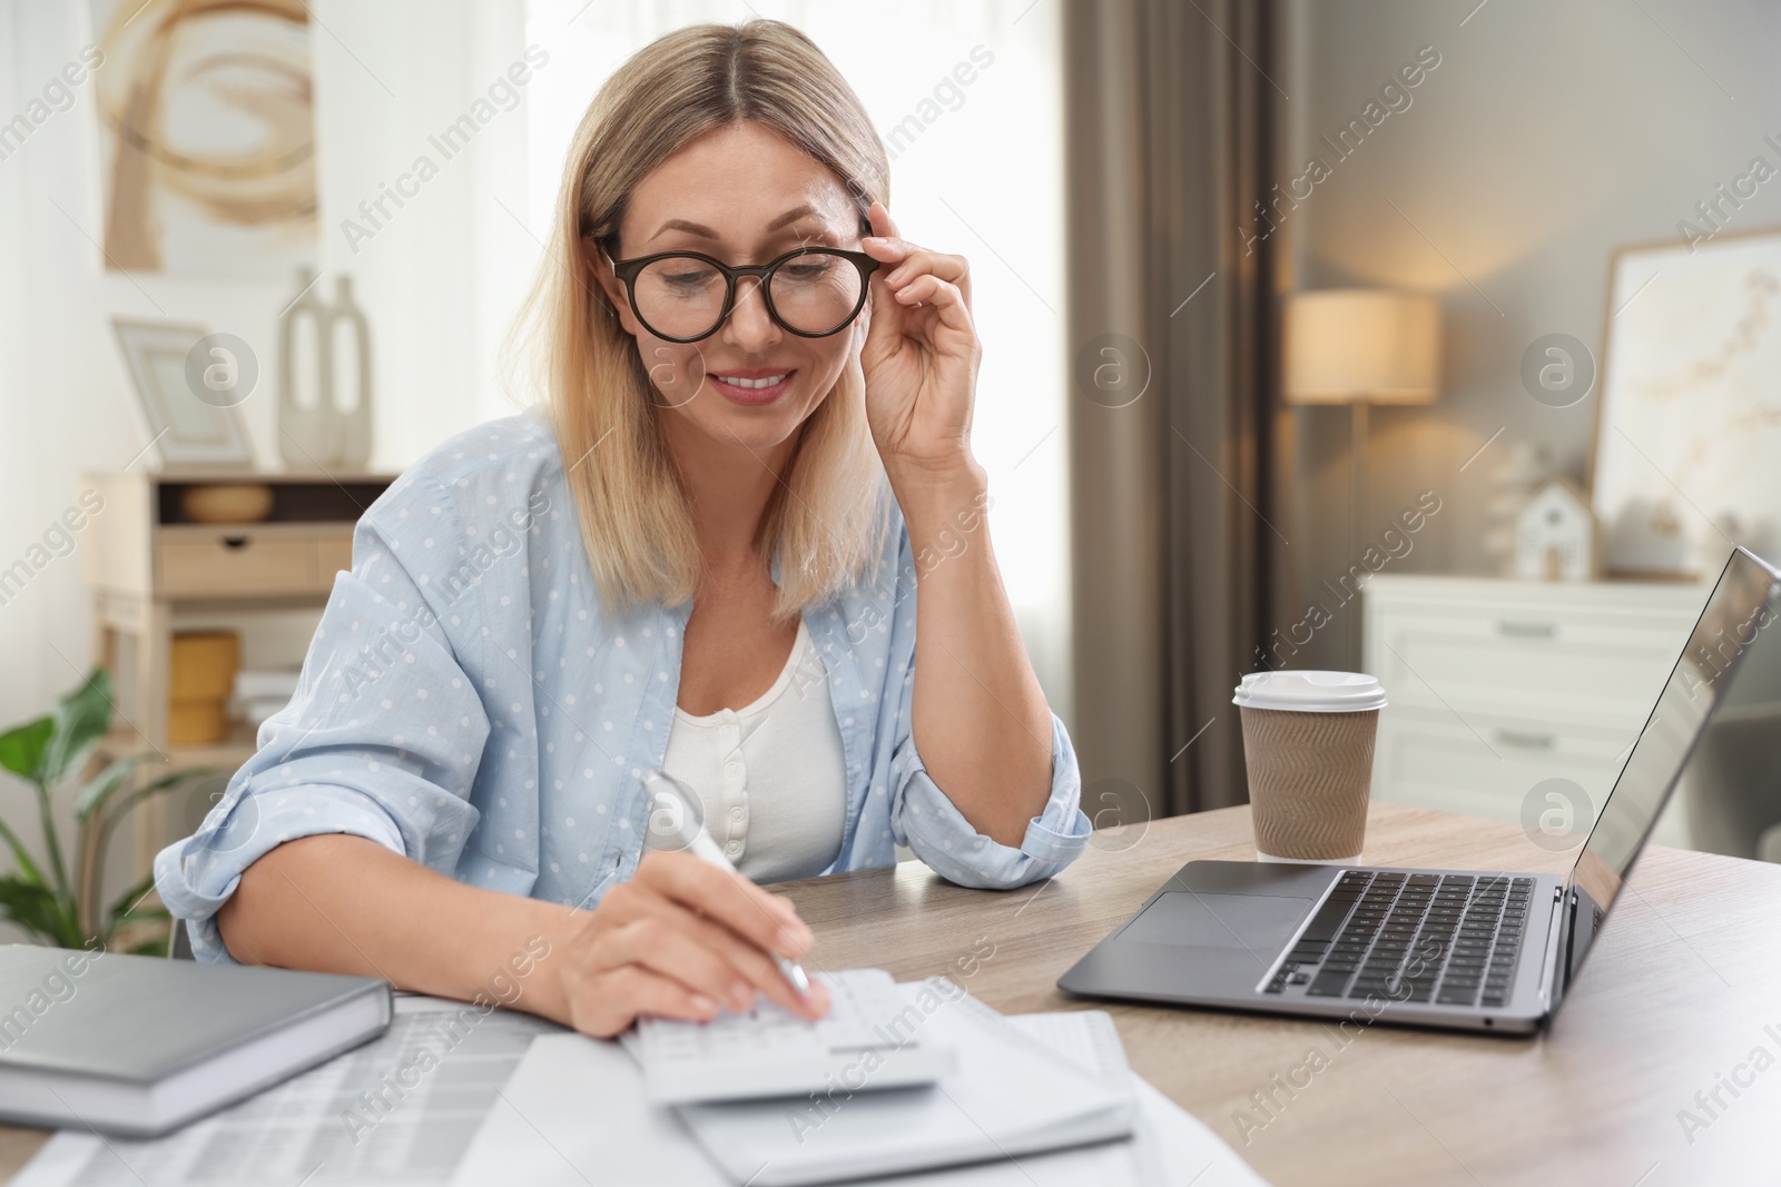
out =
<svg viewBox="0 0 1781 1187"><path fill-rule="evenodd" d="M905 710L899 715L908 721ZM890 760L894 799L890 826L935 874L960 886L1008 890L1051 877L1088 844L1092 826L1081 810L1083 779L1076 749L1058 715L1051 715L1051 797L1028 820L1019 847L978 833L928 776L912 733L898 739Z"/></svg>

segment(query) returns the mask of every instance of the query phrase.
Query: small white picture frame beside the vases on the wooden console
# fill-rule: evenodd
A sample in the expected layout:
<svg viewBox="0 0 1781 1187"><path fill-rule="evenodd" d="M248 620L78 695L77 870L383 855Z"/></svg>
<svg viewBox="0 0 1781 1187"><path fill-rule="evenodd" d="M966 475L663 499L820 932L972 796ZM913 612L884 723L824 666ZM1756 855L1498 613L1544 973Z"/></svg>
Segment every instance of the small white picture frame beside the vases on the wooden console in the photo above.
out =
<svg viewBox="0 0 1781 1187"><path fill-rule="evenodd" d="M187 322L112 319L137 418L162 466L253 468L253 448L233 408L199 400L185 359L208 331Z"/></svg>

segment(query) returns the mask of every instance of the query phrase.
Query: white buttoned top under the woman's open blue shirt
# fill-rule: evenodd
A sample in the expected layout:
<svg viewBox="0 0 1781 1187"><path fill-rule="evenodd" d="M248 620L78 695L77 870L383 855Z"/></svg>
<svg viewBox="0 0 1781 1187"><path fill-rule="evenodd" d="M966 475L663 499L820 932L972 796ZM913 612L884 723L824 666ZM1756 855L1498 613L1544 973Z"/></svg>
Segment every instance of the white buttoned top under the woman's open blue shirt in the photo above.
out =
<svg viewBox="0 0 1781 1187"><path fill-rule="evenodd" d="M835 863L848 760L801 619L785 669L752 705L707 717L675 707L663 772L698 795L705 831L746 877L782 883Z"/></svg>

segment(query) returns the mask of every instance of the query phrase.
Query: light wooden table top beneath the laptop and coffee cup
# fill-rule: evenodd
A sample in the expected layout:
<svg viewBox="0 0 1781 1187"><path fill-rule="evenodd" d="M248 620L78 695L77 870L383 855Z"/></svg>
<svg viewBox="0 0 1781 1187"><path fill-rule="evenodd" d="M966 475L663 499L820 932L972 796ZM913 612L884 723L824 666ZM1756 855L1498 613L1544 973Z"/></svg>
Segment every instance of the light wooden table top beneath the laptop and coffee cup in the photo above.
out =
<svg viewBox="0 0 1781 1187"><path fill-rule="evenodd" d="M919 863L785 892L816 929L812 966L878 966L905 981L946 973L1004 1013L1110 1009L1133 1068L1277 1187L1781 1182L1781 868L1647 851L1558 1021L1533 1039L1373 1025L1345 1046L1322 1021L1104 1005L1056 989L1065 968L1195 858L1252 860L1248 808L1097 835L1061 877L1010 893L960 890ZM1514 824L1378 803L1366 858L1569 865ZM1756 1048L1765 1055L1753 1062ZM1309 1086L1288 1096L1273 1077L1309 1068L1313 1050L1327 1064L1298 1071ZM1729 1077L1747 1084L1736 1096L1722 1087ZM1256 1094L1268 1093L1265 1112ZM1696 1093L1706 1093L1704 1109ZM1697 1123L1685 1128L1683 1110ZM11 1176L43 1141L0 1126L0 1173Z"/></svg>

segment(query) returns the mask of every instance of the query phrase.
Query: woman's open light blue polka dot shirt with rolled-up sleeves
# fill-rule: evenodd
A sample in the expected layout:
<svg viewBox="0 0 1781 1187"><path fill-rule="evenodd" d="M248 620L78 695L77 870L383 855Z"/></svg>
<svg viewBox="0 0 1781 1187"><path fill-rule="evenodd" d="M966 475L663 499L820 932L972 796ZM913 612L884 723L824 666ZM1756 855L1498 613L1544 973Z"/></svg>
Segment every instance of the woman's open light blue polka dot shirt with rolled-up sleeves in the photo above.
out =
<svg viewBox="0 0 1781 1187"><path fill-rule="evenodd" d="M1069 735L1053 717L1051 799L1019 849L965 822L910 735L914 575L892 514L878 577L805 614L848 767L826 872L890 865L905 844L964 886L1049 877L1090 833ZM203 826L155 858L162 900L199 959L226 961L216 913L242 870L353 833L461 883L591 908L638 868L639 776L668 746L689 614L602 609L541 415L459 434L358 521L290 705Z"/></svg>

